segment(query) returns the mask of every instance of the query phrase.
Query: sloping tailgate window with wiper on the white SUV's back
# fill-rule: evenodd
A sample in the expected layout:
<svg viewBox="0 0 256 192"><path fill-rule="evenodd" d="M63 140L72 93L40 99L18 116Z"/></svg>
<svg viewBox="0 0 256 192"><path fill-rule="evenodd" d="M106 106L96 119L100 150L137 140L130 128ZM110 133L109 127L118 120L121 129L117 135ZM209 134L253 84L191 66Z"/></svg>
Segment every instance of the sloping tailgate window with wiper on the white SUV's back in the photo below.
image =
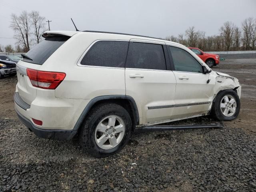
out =
<svg viewBox="0 0 256 192"><path fill-rule="evenodd" d="M69 38L68 36L47 37L26 53L26 56L30 57L32 60L27 58L23 58L22 60L42 65Z"/></svg>

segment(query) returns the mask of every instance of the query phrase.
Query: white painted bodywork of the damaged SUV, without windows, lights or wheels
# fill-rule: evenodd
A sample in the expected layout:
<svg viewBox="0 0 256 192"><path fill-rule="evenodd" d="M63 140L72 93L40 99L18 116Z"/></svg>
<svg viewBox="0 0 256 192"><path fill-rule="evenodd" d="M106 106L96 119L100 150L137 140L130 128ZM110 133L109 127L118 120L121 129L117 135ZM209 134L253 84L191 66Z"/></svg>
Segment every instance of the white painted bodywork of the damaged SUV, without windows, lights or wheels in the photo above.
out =
<svg viewBox="0 0 256 192"><path fill-rule="evenodd" d="M142 126L207 114L216 94L223 89L239 87L237 91L239 97L241 95L241 87L236 78L232 80L225 76L226 74L217 74L214 71L210 74L198 74L80 65L84 54L98 40L133 40L178 46L188 51L198 62L208 68L191 50L174 42L96 32L50 31L48 33L67 35L71 38L60 46L43 65L31 64L22 60L17 65L25 69L66 73L65 79L56 90L33 87L28 76L17 73L16 92L19 92L22 100L30 104L30 108L23 110L17 104L15 104L15 108L29 120L32 118L42 120L43 125L37 126L39 128L72 130L88 102L98 96L127 95L134 98L140 117L139 126ZM143 74L144 78L130 78L131 74ZM180 80L179 76L188 76L189 79ZM207 84L208 78L210 82ZM209 103L148 109L152 106L194 102Z"/></svg>

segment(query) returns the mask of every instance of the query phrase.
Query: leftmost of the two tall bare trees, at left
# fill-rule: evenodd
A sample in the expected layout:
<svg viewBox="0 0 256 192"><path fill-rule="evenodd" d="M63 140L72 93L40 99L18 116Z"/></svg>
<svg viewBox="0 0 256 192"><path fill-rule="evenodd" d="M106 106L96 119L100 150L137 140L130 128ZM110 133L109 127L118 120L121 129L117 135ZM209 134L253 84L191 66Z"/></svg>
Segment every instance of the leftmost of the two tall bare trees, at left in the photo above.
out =
<svg viewBox="0 0 256 192"><path fill-rule="evenodd" d="M23 11L20 16L16 14L11 15L11 25L10 27L15 31L14 38L17 40L17 44L22 45L25 51L30 50L30 18L26 11Z"/></svg>

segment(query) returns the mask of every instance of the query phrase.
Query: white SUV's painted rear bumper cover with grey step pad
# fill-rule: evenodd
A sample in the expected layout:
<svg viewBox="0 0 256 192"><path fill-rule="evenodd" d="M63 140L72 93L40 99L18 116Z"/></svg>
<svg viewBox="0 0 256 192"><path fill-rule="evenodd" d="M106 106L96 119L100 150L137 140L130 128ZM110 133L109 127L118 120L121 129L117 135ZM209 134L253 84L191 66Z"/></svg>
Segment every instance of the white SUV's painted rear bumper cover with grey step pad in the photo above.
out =
<svg viewBox="0 0 256 192"><path fill-rule="evenodd" d="M18 88L16 89L16 91ZM54 90L37 90L35 98L22 97L20 92L14 93L15 109L26 119L30 120L36 128L43 130L77 130L75 126L79 116L82 114L87 102L82 99L63 99L54 96ZM23 94L26 96L26 94ZM33 100L28 102L26 100ZM42 121L42 125L37 125L33 119Z"/></svg>

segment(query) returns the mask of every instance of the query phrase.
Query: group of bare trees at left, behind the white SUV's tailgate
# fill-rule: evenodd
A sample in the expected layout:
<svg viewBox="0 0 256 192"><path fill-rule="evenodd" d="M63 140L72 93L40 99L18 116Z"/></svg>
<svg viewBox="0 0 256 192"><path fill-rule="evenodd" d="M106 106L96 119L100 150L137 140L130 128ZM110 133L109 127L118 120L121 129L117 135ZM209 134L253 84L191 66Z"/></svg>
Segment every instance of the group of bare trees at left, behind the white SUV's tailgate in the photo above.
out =
<svg viewBox="0 0 256 192"><path fill-rule="evenodd" d="M40 16L38 11L23 11L20 15L13 13L10 28L14 30L16 47L0 45L0 52L28 52L31 46L42 40L45 24L45 17Z"/></svg>

